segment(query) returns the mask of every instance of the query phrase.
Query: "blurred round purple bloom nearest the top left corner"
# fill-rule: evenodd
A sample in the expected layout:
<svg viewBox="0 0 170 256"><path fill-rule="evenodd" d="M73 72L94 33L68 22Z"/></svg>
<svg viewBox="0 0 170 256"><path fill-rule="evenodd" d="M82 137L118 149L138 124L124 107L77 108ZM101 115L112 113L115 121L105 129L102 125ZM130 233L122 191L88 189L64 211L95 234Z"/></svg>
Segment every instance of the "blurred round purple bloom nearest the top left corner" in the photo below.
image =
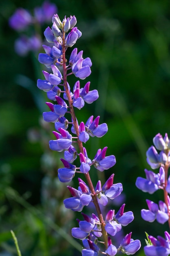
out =
<svg viewBox="0 0 170 256"><path fill-rule="evenodd" d="M23 8L18 8L15 13L9 18L9 25L11 28L22 31L32 22L32 16L29 11Z"/></svg>

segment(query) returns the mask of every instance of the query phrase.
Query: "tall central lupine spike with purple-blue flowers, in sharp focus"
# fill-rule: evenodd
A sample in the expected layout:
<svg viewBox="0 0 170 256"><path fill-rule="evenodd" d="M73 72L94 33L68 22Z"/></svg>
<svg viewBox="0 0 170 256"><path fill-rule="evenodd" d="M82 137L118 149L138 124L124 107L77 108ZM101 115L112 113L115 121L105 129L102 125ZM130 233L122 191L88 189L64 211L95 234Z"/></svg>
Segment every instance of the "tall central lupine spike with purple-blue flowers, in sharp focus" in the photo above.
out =
<svg viewBox="0 0 170 256"><path fill-rule="evenodd" d="M52 122L55 126L53 131L55 139L49 141L49 147L51 150L64 152L64 159L61 159L64 167L58 169L60 182L71 182L77 173L83 173L86 177L86 182L78 177L78 189L67 186L72 197L64 199L64 206L82 213L84 207L93 203L97 211L97 214L92 213L92 216L82 213L84 220L77 220L79 227L72 229L72 236L83 240L83 256L98 255L100 252L114 256L120 251L127 255L135 254L141 247L141 243L131 238L131 232L124 237L118 248L112 244L111 240L111 236L115 236L122 226L132 222L134 219L132 211L124 212L125 204L123 204L117 213L114 209L108 211L104 219L100 209L101 205L108 204L108 198L114 200L121 194L122 184L114 184L114 174L112 174L103 186L99 180L94 188L89 174L93 167L100 172L113 167L116 163L115 156L106 156L107 146L105 146L103 149L99 148L93 159L90 159L83 146L90 137L104 136L108 126L106 123L99 124L99 116L93 119L92 115L86 122L80 123L75 117L74 108L80 110L85 103L91 104L99 97L97 90L89 90L90 82L81 88L78 80L71 89L67 81L71 74L82 80L91 74L91 59L84 59L83 51L77 52L77 48L74 48L68 63L65 58L67 48L73 47L82 33L75 27L77 23L75 16L64 17L61 21L55 14L52 22L52 27L48 27L44 35L49 43L53 43L53 46L43 45L45 53L39 54L40 63L51 68L51 73L43 71L45 79L37 81L38 88L47 93L49 100L54 101L54 103L46 102L50 111L43 113L44 121ZM62 71L59 70L59 66ZM75 165L74 161L77 158L79 164L76 161ZM106 247L105 252L98 247L102 242L98 239L102 236Z"/></svg>

